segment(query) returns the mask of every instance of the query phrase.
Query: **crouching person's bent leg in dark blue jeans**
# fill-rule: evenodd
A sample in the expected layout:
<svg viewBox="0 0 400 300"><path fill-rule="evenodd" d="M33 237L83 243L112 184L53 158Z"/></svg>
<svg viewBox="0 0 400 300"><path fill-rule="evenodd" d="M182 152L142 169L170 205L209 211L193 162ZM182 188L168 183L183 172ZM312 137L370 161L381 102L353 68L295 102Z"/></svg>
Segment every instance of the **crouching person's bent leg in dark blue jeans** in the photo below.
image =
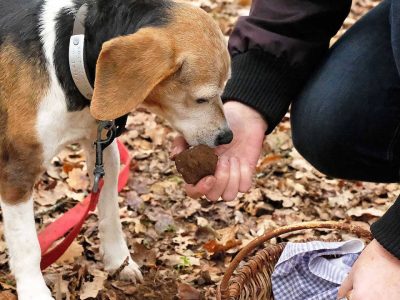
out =
<svg viewBox="0 0 400 300"><path fill-rule="evenodd" d="M399 181L400 77L389 12L384 1L357 22L292 104L294 145L327 175Z"/></svg>

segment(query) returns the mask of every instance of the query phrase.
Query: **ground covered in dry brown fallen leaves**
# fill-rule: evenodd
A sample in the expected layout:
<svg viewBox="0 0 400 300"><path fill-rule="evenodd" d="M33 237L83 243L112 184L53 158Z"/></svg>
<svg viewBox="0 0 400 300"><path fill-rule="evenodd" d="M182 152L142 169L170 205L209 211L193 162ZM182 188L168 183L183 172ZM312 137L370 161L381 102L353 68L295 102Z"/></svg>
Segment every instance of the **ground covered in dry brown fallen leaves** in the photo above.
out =
<svg viewBox="0 0 400 300"><path fill-rule="evenodd" d="M193 2L210 13L228 36L247 0ZM337 39L376 5L356 1ZM145 282L133 285L107 274L101 263L97 215L45 278L56 299L215 299L216 286L234 255L271 228L310 220L347 220L368 228L398 194L397 184L348 182L327 178L293 148L288 114L264 143L256 180L232 202L210 203L185 196L183 181L169 159L174 133L145 112L129 117L121 140L133 162L128 186L120 193L120 214L133 257ZM55 220L88 193L85 158L79 145L58 155L36 186L38 229ZM2 225L0 225L2 226ZM303 232L346 238L340 233ZM2 227L0 227L2 236ZM4 238L0 240L0 299L15 299Z"/></svg>

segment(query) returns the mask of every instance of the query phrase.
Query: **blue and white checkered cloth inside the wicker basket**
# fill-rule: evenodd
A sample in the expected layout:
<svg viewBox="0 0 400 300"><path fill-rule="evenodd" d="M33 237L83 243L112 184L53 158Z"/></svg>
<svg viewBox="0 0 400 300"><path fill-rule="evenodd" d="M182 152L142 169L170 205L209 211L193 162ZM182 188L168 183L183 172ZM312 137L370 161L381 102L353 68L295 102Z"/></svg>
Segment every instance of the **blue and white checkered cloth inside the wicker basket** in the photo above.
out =
<svg viewBox="0 0 400 300"><path fill-rule="evenodd" d="M360 240L287 243L272 274L275 300L336 300L364 248Z"/></svg>

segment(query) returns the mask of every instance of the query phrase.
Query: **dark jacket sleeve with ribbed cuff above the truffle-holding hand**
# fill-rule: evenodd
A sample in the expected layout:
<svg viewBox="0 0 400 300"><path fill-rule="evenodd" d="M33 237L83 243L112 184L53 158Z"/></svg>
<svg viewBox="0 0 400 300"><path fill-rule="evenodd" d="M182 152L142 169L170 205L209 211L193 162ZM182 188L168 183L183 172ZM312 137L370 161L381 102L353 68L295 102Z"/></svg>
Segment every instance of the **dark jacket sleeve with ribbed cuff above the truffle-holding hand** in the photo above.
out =
<svg viewBox="0 0 400 300"><path fill-rule="evenodd" d="M232 77L222 99L259 111L268 133L280 122L329 41L351 0L253 0L229 40Z"/></svg>

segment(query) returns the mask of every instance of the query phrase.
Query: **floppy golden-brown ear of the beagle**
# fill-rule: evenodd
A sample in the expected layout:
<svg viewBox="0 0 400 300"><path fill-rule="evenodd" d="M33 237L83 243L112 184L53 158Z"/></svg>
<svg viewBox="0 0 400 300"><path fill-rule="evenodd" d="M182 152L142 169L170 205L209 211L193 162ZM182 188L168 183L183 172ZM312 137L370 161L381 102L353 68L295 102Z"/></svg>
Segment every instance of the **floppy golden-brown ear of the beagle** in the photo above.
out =
<svg viewBox="0 0 400 300"><path fill-rule="evenodd" d="M103 44L96 66L92 116L112 120L142 103L178 64L173 41L162 28L143 28Z"/></svg>

